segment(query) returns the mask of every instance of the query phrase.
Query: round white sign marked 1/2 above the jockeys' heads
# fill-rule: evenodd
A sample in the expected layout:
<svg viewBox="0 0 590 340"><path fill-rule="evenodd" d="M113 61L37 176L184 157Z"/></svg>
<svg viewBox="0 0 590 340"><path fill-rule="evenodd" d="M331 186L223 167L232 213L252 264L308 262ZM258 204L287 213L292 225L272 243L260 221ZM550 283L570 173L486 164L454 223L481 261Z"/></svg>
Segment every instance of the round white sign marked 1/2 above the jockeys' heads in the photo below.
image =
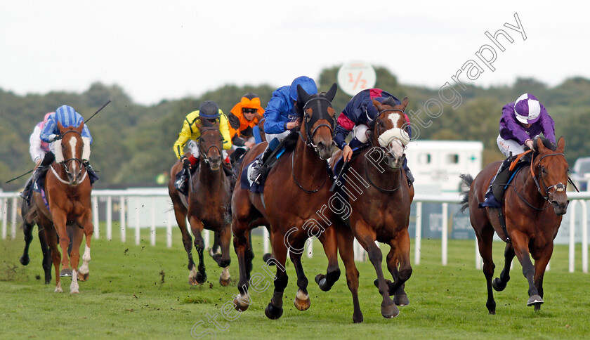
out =
<svg viewBox="0 0 590 340"><path fill-rule="evenodd" d="M374 68L364 61L346 63L338 70L338 86L350 96L375 86L377 76Z"/></svg>

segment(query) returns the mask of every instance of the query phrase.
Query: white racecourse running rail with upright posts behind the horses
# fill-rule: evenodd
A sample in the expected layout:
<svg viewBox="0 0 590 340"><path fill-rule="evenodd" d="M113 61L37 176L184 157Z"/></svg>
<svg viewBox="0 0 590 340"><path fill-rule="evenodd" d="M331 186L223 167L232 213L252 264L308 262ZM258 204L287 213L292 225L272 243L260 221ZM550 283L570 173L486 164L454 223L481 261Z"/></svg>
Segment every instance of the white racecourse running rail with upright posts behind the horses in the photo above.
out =
<svg viewBox="0 0 590 340"><path fill-rule="evenodd" d="M20 193L19 192L0 192L0 216L1 216L1 237L2 239L6 239L7 237L7 222L8 222L8 200L12 200L11 206L11 238L16 237L16 226L18 221L18 211L17 207L20 203ZM119 202L119 220L120 220L120 233L121 233L121 240L122 242L126 242L126 228L128 219L131 221L135 221L134 228L135 228L135 243L140 244L140 221L141 217L143 219L146 218L150 221L150 244L156 244L156 225L157 225L157 214L156 214L156 207L157 202L162 202L162 198L164 198L166 212L166 245L167 247L172 246L172 225L176 225L176 220L174 218L173 210L171 209L171 202L168 196L167 188L152 188L149 190L145 189L127 189L127 190L93 190L92 192L92 201L93 201L93 223L95 225L95 232L94 237L98 239L100 237L100 228L99 228L99 219L100 216L98 214L98 197L106 197L106 216L104 221L106 221L106 238L107 240L112 240L112 207L113 197L118 197ZM138 200L133 200L133 198L141 198L141 202L144 204L140 204ZM570 215L570 225L569 225L569 233L570 233L570 242L569 242L569 271L570 273L574 272L574 265L575 265L575 225L576 225L576 214L575 211L577 206L581 206L582 208L582 271L584 273L588 273L588 221L587 221L587 210L586 210L586 200L590 200L590 192L568 192L568 197L570 199L570 206L568 208L568 215ZM145 200L149 199L151 202L150 207L145 207ZM156 201L156 200L159 201ZM135 201L135 202L134 202ZM421 254L421 235L422 235L422 204L423 203L440 203L442 204L442 228L441 228L441 259L442 265L447 265L447 241L449 235L449 228L448 228L448 207L449 204L459 204L459 196L458 195L416 195L414 197L414 203L416 207L416 236L415 236L415 246L414 246L414 264L420 264L420 254ZM134 205L133 205L134 204ZM159 206L162 209L162 206ZM133 211L133 215L131 215L131 211ZM149 215L148 215L149 214ZM132 218L133 217L133 218ZM158 218L162 218L162 216L158 216ZM162 225L162 224L159 224ZM565 225L562 225L563 229ZM209 230L204 230L204 240L206 247L209 246ZM263 230L263 248L265 252L268 252L270 249L269 240L268 240L268 232L264 229ZM311 242L311 240L310 240ZM358 242L355 241L355 253L360 254L362 248L358 250ZM311 244L310 244L311 245ZM308 247L308 257L311 257L313 247ZM475 261L476 261L476 268L481 268L481 258L478 253L477 241L475 247ZM360 256L362 257L362 256Z"/></svg>

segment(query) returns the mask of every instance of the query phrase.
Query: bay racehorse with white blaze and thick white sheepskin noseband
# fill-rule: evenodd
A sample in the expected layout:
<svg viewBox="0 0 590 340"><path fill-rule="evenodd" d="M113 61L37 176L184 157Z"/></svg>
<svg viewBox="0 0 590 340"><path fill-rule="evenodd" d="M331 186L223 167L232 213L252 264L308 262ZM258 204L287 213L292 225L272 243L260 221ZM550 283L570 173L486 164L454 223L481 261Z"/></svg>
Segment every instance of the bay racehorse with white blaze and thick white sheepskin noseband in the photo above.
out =
<svg viewBox="0 0 590 340"><path fill-rule="evenodd" d="M373 100L373 105L379 116L367 136L371 148L365 148L350 161L351 171L364 178L366 187L346 183L346 192L350 193L350 228L368 252L377 273L375 285L383 296L381 315L393 318L400 313L396 305L409 303L404 284L412 275L407 228L414 186L408 186L402 169L405 145L409 143L409 136L405 132L408 122L404 115L407 98L401 105L381 104L376 100ZM332 159L335 161L340 156L341 152L336 152ZM393 283L385 280L381 270L383 255L375 241L391 247L387 254L387 268L393 276ZM393 301L390 295L395 295Z"/></svg>

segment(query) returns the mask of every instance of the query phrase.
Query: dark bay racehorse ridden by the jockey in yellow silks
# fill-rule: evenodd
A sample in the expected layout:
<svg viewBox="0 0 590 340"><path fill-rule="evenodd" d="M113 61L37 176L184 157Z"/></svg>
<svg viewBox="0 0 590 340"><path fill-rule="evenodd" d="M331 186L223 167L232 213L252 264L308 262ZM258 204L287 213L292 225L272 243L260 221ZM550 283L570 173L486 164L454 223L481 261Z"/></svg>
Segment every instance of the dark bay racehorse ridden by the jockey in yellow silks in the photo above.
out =
<svg viewBox="0 0 590 340"><path fill-rule="evenodd" d="M223 268L219 283L223 286L230 284L230 240L232 230L230 225L230 181L223 169L223 136L219 131L217 123L212 124L206 119L202 119L201 125L197 124L197 129L201 131L199 137L199 167L189 178L190 186L188 197L182 195L174 188L174 179L178 171L181 171L183 164L177 161L170 170L170 180L168 183L168 192L174 207L174 216L176 223L181 229L183 235L183 244L186 254L188 255L188 283L190 285L199 285L206 281L204 265L205 242L201 235L203 229L211 230L215 233L214 245L221 245L221 254L211 254L218 266ZM190 152L186 152L187 157ZM190 230L195 236L195 248L199 255L199 266L192 260L192 240L186 228L186 218L190 223Z"/></svg>

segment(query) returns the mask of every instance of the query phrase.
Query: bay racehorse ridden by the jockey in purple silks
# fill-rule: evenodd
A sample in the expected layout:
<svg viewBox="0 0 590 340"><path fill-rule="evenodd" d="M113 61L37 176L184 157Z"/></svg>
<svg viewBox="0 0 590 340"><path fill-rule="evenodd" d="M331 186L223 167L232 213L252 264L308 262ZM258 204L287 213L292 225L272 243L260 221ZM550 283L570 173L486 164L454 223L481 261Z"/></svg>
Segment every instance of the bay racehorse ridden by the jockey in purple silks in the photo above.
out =
<svg viewBox="0 0 590 340"><path fill-rule="evenodd" d="M480 209L485 191L496 174L500 162L489 164L476 179L461 175L464 183L470 186L464 192L463 208L469 208L471 225L476 231L478 247L483 258L483 274L487 282L487 302L490 314L496 313L496 302L492 291L504 290L510 280L510 265L514 256L523 266L523 275L528 281L527 306L541 308L543 301L543 275L551 254L553 239L568 207L568 162L563 150L565 140L559 138L557 148L545 138L538 138L530 169L519 171L506 189L502 213L506 221L506 234L509 237L504 250L504 269L500 277L492 281L494 261L492 259L492 239L494 230L502 240L506 234L501 228L498 209ZM530 256L535 260L532 264Z"/></svg>

